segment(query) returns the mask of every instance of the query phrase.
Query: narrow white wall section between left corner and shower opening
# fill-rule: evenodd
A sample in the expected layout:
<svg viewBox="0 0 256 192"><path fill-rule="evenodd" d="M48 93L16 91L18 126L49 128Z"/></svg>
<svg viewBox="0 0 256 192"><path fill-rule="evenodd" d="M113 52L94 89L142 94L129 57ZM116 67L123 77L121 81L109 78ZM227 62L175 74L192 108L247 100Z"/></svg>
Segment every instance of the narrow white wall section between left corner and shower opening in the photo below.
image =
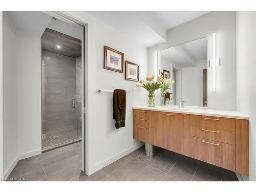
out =
<svg viewBox="0 0 256 192"><path fill-rule="evenodd" d="M17 52L18 154L41 152L41 39L19 32Z"/></svg>

